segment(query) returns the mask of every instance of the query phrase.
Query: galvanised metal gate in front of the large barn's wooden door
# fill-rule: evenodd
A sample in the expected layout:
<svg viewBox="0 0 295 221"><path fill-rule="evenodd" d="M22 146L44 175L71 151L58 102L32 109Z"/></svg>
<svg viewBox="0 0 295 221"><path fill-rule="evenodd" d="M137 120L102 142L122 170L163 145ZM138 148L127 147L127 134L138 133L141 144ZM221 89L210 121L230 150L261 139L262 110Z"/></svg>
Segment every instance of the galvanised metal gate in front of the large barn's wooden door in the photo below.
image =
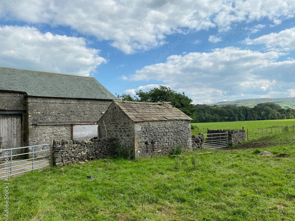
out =
<svg viewBox="0 0 295 221"><path fill-rule="evenodd" d="M40 147L42 147L42 150L39 150ZM19 152L19 149L22 154L14 154L14 151ZM30 152L27 150L30 150ZM50 144L2 149L0 153L3 154L3 156L0 156L0 178L8 179L12 175L52 166ZM14 159L15 157L27 159Z"/></svg>

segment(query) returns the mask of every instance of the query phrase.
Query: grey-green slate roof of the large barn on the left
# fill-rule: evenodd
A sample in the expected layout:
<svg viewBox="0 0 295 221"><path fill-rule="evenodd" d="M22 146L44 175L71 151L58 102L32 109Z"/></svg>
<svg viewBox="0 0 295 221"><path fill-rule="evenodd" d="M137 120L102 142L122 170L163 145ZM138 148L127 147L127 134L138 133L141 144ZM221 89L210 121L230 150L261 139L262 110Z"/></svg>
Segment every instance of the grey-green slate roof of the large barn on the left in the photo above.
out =
<svg viewBox="0 0 295 221"><path fill-rule="evenodd" d="M0 90L54 98L118 99L94 77L0 67Z"/></svg>

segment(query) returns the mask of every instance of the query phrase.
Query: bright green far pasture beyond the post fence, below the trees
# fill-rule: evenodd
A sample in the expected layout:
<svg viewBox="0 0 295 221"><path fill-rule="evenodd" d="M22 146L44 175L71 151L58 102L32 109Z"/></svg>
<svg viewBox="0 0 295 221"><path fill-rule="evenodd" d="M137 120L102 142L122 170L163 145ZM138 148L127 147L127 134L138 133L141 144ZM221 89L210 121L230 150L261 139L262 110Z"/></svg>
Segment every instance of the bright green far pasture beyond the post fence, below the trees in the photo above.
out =
<svg viewBox="0 0 295 221"><path fill-rule="evenodd" d="M254 137L258 138L258 128L259 137L262 137L262 128L263 133L266 136L266 128L268 128L268 135L271 134L271 128L273 128L273 134L279 133L278 127L280 127L280 132L282 131L281 126L289 125L289 127L295 125L295 119L287 120L266 120L266 121L232 121L232 122L209 122L209 123L192 123L198 128L191 131L192 135L197 135L198 133L207 133L207 128L210 129L242 129L244 127L245 131L249 130L249 139L252 139L252 130L254 130ZM277 128L275 128L277 127Z"/></svg>

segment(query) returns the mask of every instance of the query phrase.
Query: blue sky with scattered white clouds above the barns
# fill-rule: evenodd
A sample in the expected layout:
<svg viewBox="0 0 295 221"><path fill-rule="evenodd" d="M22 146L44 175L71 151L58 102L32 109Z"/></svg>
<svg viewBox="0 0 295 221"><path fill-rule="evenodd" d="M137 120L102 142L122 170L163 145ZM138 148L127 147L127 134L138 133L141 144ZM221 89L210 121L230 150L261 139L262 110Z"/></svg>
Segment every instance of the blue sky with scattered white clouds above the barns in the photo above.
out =
<svg viewBox="0 0 295 221"><path fill-rule="evenodd" d="M0 66L158 85L194 104L295 97L295 1L2 0Z"/></svg>

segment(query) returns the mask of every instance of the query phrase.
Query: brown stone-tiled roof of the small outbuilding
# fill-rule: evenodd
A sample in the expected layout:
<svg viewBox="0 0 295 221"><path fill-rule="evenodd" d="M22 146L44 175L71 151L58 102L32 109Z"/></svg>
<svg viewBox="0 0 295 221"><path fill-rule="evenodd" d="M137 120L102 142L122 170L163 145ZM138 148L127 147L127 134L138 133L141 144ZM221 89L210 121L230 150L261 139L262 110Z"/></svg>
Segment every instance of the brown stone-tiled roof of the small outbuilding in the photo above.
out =
<svg viewBox="0 0 295 221"><path fill-rule="evenodd" d="M173 107L170 102L147 103L122 100L113 102L134 122L192 120L181 110Z"/></svg>

